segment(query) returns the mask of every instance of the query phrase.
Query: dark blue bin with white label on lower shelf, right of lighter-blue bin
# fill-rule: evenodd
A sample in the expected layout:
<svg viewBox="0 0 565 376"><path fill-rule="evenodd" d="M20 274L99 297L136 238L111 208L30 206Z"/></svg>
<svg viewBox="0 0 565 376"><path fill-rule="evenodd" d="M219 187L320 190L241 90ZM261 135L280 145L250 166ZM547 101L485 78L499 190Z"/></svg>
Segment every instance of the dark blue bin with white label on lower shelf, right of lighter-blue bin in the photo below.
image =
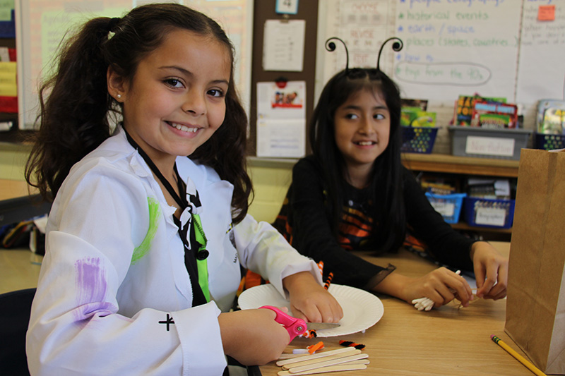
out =
<svg viewBox="0 0 565 376"><path fill-rule="evenodd" d="M510 229L514 219L514 200L465 198L465 222L469 226Z"/></svg>

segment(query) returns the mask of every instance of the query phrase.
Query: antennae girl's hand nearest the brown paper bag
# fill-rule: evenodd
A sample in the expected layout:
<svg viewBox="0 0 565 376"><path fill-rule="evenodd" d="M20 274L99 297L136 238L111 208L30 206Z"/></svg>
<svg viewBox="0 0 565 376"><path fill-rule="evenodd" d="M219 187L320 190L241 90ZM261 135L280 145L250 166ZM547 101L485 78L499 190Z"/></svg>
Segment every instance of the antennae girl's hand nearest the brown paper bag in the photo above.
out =
<svg viewBox="0 0 565 376"><path fill-rule="evenodd" d="M477 279L477 296L494 300L504 298L508 285L508 260L486 241L473 243L470 255Z"/></svg>

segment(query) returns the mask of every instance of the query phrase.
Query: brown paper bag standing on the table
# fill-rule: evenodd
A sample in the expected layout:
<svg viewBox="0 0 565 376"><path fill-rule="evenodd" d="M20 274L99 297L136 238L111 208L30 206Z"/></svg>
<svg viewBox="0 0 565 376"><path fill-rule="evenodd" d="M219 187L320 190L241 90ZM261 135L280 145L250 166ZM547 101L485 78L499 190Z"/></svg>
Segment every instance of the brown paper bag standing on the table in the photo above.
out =
<svg viewBox="0 0 565 376"><path fill-rule="evenodd" d="M523 149L504 330L540 370L565 375L565 151Z"/></svg>

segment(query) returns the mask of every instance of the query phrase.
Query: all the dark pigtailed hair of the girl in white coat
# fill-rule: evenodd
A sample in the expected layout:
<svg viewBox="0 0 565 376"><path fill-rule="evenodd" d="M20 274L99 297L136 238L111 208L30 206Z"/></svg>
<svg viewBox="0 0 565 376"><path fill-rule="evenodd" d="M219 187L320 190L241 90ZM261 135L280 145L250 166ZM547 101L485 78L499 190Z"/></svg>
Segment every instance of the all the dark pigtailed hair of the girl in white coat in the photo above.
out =
<svg viewBox="0 0 565 376"><path fill-rule="evenodd" d="M52 200L73 164L109 138L109 115L121 107L107 91L112 65L131 80L139 61L160 46L168 32L189 30L214 37L231 56L225 121L190 157L212 166L234 185L234 222L247 212L252 192L246 172L247 117L234 87L234 47L214 20L179 4L149 4L123 18L94 18L61 46L56 72L40 87L40 128L25 166L25 179Z"/></svg>

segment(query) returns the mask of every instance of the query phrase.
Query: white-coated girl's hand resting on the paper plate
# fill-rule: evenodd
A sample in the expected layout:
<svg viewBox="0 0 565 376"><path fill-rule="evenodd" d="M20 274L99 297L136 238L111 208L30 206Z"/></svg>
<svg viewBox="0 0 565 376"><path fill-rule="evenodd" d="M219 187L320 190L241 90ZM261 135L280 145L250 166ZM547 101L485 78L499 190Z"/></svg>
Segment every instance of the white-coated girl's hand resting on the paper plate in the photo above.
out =
<svg viewBox="0 0 565 376"><path fill-rule="evenodd" d="M316 282L310 272L286 277L283 286L290 295L293 316L306 322L338 322L343 317L338 301Z"/></svg>

